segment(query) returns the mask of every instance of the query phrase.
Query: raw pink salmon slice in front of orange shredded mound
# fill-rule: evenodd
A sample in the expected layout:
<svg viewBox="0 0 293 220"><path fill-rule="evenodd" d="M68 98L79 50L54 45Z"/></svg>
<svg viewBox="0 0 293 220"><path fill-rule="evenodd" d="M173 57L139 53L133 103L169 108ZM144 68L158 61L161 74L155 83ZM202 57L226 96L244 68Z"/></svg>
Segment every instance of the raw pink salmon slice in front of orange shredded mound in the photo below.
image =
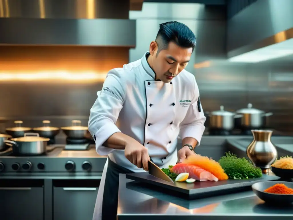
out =
<svg viewBox="0 0 293 220"><path fill-rule="evenodd" d="M193 178L198 181L218 181L218 178L212 175L212 173L191 164L177 163L170 169L170 171L176 174L189 173L189 178Z"/></svg>

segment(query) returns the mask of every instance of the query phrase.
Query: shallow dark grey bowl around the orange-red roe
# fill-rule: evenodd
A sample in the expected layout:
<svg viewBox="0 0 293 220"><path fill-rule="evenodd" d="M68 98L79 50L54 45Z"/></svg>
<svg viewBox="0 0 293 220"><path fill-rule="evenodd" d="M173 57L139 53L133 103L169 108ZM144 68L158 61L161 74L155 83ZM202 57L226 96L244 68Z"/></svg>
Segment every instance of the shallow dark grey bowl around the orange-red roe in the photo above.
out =
<svg viewBox="0 0 293 220"><path fill-rule="evenodd" d="M282 182L282 181L267 181L267 182L257 182L253 184L252 190L256 194L256 196L267 203L274 203L276 205L292 203L293 202L293 194L275 194L264 192L265 189L277 184L283 183L287 187L293 189L293 182Z"/></svg>

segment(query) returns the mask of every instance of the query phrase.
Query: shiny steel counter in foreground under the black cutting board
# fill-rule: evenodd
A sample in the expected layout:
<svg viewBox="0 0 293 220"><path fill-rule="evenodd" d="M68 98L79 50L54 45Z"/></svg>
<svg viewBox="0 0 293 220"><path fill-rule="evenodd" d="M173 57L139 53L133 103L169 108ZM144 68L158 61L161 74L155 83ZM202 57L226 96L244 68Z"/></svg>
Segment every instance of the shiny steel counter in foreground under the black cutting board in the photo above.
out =
<svg viewBox="0 0 293 220"><path fill-rule="evenodd" d="M252 191L188 201L148 189L120 174L118 220L275 220L279 217L292 219L293 205L270 207Z"/></svg>

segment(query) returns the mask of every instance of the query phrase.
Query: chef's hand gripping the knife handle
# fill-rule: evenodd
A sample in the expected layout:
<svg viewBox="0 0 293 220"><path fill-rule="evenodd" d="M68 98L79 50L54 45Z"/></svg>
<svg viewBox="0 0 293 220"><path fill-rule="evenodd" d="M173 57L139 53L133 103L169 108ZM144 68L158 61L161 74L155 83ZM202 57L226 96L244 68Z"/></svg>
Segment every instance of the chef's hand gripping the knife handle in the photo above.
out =
<svg viewBox="0 0 293 220"><path fill-rule="evenodd" d="M124 154L125 157L138 168L149 170L148 160L150 160L150 158L148 149L138 141L134 139L128 141L125 145Z"/></svg>

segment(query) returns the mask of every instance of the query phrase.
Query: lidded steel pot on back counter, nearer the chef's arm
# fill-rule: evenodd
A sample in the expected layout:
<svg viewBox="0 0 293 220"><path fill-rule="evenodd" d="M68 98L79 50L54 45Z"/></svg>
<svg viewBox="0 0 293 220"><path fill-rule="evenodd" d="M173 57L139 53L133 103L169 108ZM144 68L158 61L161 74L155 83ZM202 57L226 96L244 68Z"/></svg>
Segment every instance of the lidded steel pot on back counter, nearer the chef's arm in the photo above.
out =
<svg viewBox="0 0 293 220"><path fill-rule="evenodd" d="M234 119L241 118L241 114L225 111L224 106L220 106L219 111L207 112L209 117L209 129L219 129L230 131L234 128Z"/></svg>

